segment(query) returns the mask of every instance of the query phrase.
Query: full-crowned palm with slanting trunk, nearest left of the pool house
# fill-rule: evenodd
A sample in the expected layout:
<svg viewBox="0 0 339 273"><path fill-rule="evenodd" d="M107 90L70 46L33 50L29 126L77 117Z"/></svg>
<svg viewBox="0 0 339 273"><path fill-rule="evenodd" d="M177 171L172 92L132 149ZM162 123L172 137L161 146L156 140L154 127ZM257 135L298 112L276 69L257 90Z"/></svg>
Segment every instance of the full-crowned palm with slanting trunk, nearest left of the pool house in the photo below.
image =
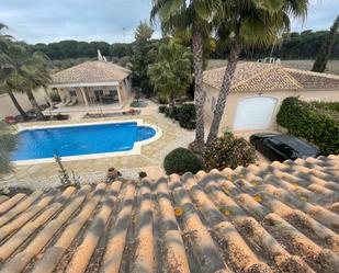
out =
<svg viewBox="0 0 339 273"><path fill-rule="evenodd" d="M25 92L33 106L37 120L44 115L33 95L32 90L46 87L50 81L47 57L43 53L31 53L23 43L10 43L7 55L9 64L1 71L2 87L12 98L13 92ZM22 113L21 113L22 114Z"/></svg>

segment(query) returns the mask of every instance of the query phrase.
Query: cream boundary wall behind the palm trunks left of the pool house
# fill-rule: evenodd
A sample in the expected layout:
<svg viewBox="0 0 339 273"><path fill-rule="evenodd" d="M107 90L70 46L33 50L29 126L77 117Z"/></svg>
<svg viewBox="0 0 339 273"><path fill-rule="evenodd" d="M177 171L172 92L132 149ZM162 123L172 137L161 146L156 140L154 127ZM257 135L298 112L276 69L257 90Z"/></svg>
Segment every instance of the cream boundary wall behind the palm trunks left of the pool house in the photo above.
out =
<svg viewBox="0 0 339 273"><path fill-rule="evenodd" d="M19 104L24 111L32 109L32 105L25 93L14 93ZM34 92L35 100L38 104L46 104L45 92L43 88L37 89ZM15 109L11 98L8 94L0 94L0 120L3 120L8 115L19 115L20 113Z"/></svg>

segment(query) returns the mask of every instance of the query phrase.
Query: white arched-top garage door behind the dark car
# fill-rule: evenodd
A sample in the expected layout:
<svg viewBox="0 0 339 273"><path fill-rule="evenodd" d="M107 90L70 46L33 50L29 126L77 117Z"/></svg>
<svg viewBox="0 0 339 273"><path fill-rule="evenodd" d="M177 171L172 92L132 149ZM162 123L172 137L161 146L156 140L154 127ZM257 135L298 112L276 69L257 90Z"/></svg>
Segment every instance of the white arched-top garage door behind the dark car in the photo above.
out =
<svg viewBox="0 0 339 273"><path fill-rule="evenodd" d="M233 129L265 129L276 105L276 99L258 96L238 103Z"/></svg>

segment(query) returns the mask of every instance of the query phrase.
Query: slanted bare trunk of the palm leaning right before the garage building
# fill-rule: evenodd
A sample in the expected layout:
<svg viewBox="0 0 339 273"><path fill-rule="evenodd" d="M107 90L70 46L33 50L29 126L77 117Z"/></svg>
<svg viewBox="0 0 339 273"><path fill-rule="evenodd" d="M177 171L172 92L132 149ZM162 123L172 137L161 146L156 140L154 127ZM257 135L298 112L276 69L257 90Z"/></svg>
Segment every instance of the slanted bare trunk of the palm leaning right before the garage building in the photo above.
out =
<svg viewBox="0 0 339 273"><path fill-rule="evenodd" d="M219 126L221 126L221 121L223 118L224 111L225 111L227 95L230 89L231 80L236 72L240 53L241 53L241 44L239 42L235 42L234 46L231 47L229 57L228 57L227 68L224 75L221 93L217 99L214 112L213 112L213 121L212 121L210 134L207 137L207 144L211 144L213 140L217 138Z"/></svg>

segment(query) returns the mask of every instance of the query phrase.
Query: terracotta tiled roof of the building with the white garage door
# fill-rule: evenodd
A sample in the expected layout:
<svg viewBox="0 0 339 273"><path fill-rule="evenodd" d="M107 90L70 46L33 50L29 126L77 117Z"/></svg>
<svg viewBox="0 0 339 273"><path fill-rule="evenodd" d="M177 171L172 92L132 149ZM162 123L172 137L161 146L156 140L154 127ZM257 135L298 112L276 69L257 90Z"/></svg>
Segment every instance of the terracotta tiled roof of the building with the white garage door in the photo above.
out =
<svg viewBox="0 0 339 273"><path fill-rule="evenodd" d="M204 83L221 89L226 67L204 71ZM300 89L339 88L339 77L297 69L276 64L239 62L230 92L269 92Z"/></svg>

